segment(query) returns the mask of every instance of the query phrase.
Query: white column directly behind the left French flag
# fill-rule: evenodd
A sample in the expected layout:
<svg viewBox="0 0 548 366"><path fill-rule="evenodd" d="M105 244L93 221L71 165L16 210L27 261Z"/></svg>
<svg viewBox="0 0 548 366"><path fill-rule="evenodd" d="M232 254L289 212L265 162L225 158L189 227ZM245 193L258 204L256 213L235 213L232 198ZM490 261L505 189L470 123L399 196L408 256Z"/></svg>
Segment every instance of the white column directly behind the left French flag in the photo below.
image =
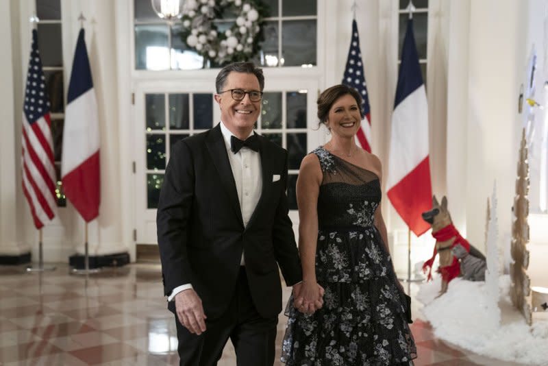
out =
<svg viewBox="0 0 548 366"><path fill-rule="evenodd" d="M67 67L67 80L70 77L72 58L75 50L80 22L80 12L86 17L86 47L90 58L93 86L97 96L100 131L101 158L101 206L99 217L88 224L88 243L90 256L101 256L127 252L128 243L122 238L122 204L121 195L124 187L121 184L120 169L120 134L118 119L118 84L116 74L116 19L115 3L109 0L83 2L81 7L71 10L71 29L73 44L69 49L71 61ZM127 65L129 67L129 65ZM129 103L129 97L127 99ZM77 213L75 212L75 215ZM78 216L75 249L84 253L84 223Z"/></svg>

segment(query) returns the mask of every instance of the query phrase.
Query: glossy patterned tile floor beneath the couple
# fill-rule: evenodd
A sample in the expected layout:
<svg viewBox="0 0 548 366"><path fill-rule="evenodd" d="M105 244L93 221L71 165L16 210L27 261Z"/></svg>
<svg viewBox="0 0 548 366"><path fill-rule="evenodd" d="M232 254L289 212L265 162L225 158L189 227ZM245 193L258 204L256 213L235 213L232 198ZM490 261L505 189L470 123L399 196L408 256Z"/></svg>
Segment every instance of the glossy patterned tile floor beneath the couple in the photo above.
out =
<svg viewBox="0 0 548 366"><path fill-rule="evenodd" d="M24 269L0 267L0 366L177 365L175 324L162 297L158 265L129 265L90 276L71 275L66 265L44 273ZM415 284L410 292L416 292ZM284 302L289 294L284 290ZM285 322L280 315L278 354ZM436 339L421 319L411 328L417 366L519 365ZM228 344L219 366L232 365L236 357Z"/></svg>

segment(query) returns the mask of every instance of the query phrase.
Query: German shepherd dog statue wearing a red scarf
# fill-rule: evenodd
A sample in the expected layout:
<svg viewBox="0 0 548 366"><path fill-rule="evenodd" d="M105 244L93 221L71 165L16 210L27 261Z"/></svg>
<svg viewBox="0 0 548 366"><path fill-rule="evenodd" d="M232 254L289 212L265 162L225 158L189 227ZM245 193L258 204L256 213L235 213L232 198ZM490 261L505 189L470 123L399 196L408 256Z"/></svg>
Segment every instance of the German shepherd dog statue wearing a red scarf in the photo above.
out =
<svg viewBox="0 0 548 366"><path fill-rule="evenodd" d="M441 273L440 295L447 291L449 282L458 276L467 280L484 280L485 256L473 245L470 245L453 226L451 215L447 210L447 197L443 196L441 204L434 195L432 210L423 212L423 219L432 225L432 236L436 239L434 254L423 265L423 271L428 271L428 280L432 280L432 265L436 255L440 255Z"/></svg>

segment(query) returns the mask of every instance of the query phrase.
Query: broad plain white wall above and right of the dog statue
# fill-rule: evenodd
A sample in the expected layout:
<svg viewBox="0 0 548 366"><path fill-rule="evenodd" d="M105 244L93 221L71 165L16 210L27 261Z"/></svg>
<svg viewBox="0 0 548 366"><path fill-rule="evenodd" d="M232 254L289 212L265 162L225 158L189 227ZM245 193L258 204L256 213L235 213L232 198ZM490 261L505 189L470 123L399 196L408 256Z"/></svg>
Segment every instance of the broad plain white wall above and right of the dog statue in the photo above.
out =
<svg viewBox="0 0 548 366"><path fill-rule="evenodd" d="M466 230L483 249L486 199L495 180L499 236L510 234L527 19L523 3L513 0L472 1L470 14Z"/></svg>

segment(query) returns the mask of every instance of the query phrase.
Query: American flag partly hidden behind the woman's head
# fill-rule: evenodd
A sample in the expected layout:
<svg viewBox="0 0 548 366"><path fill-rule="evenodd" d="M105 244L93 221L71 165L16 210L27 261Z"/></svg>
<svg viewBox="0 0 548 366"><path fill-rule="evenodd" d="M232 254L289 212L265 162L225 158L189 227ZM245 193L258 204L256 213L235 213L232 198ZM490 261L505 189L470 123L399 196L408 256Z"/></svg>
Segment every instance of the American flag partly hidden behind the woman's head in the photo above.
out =
<svg viewBox="0 0 548 366"><path fill-rule="evenodd" d="M360 51L360 36L358 35L356 19L352 21L352 38L350 40L343 84L355 88L362 96L362 112L365 119L362 120L362 126L358 130L358 141L360 141L360 145L364 149L371 152L369 97L367 96L367 88L365 86L364 65L362 62L362 52Z"/></svg>

